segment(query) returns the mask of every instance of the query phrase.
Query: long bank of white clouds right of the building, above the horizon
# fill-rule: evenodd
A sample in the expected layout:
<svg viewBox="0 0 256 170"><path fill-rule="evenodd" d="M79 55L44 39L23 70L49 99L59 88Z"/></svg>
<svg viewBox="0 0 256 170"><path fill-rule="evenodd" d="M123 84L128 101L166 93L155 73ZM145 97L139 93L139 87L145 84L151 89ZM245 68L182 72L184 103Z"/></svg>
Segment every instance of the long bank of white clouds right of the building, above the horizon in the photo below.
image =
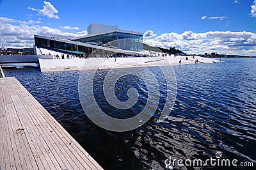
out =
<svg viewBox="0 0 256 170"><path fill-rule="evenodd" d="M175 47L184 52L204 54L218 52L220 54L240 54L255 56L256 34L251 32L209 31L194 33L185 31L182 34L165 33L143 42L154 47L169 49Z"/></svg>

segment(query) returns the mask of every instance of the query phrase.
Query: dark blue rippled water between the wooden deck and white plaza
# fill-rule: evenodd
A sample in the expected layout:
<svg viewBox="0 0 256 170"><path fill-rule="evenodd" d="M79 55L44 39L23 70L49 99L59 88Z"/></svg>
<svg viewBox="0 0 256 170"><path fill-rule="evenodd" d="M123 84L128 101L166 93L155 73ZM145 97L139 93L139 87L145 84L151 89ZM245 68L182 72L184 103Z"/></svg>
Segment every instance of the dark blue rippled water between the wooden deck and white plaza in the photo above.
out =
<svg viewBox="0 0 256 170"><path fill-rule="evenodd" d="M145 125L129 132L104 130L88 119L79 103L78 71L41 73L38 68L20 68L4 70L4 74L17 77L104 169L164 169L169 156L206 160L215 158L216 151L221 151L223 158L253 162L255 166L256 59L224 60L173 66L177 98L170 116L159 124L155 114ZM155 68L151 69L154 72ZM120 80L116 91L127 98L125 92L132 86L142 95L138 108L119 114L132 115L145 105L147 88L130 78ZM164 83L160 86L164 89ZM102 97L100 91L95 92ZM120 100L121 92L117 93ZM109 108L104 105L103 109L111 112Z"/></svg>

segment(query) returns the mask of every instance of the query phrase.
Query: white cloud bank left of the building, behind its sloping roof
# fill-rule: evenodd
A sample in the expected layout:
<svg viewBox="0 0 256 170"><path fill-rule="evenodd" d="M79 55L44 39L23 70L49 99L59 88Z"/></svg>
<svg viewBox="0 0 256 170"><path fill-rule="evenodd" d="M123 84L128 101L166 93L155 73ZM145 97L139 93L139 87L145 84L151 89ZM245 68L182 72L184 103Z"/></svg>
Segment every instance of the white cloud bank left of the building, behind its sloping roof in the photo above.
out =
<svg viewBox="0 0 256 170"><path fill-rule="evenodd" d="M21 21L0 17L0 41L6 42L7 47L33 47L34 35L83 36L87 35L87 31L68 33L49 26L39 26L35 20Z"/></svg>

